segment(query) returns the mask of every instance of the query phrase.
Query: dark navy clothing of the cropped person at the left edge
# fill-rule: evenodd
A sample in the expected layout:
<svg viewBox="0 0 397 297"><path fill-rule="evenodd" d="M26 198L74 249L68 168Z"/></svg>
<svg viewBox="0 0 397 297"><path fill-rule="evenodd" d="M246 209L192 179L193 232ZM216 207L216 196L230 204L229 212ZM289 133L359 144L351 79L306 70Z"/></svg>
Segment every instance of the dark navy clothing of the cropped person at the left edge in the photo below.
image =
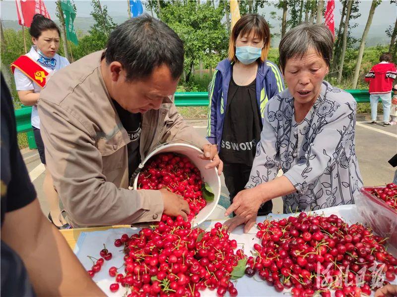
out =
<svg viewBox="0 0 397 297"><path fill-rule="evenodd" d="M6 212L17 210L36 198L18 148L12 99L1 74L1 225ZM0 226L1 226L0 225ZM17 228L17 227L16 227ZM28 243L21 243L22 245ZM21 258L1 241L1 296L34 296Z"/></svg>

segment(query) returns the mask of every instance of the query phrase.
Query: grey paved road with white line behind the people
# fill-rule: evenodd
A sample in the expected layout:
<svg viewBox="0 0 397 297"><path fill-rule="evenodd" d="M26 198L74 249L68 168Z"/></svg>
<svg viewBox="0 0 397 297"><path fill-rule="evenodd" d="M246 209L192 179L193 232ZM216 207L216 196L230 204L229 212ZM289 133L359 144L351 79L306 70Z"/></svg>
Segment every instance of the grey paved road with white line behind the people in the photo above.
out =
<svg viewBox="0 0 397 297"><path fill-rule="evenodd" d="M206 134L206 120L189 121L203 137ZM364 185L375 186L391 182L394 170L388 160L397 152L397 126L383 127L371 125L364 118L358 117L356 125L356 153L360 165ZM44 166L40 163L36 150L23 149L23 158L36 188L40 205L45 214L48 214L48 205L43 195ZM222 196L225 206L228 191L222 175ZM273 212L282 212L282 200L273 200Z"/></svg>

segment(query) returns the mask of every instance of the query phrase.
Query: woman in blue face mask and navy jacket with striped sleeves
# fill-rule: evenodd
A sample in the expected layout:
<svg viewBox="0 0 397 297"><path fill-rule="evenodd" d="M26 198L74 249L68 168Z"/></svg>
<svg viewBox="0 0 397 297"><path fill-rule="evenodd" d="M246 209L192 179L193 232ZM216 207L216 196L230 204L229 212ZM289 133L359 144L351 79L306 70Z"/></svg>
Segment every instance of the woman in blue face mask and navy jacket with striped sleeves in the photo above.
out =
<svg viewBox="0 0 397 297"><path fill-rule="evenodd" d="M265 104L284 90L278 67L266 60L270 30L257 14L244 15L230 35L228 58L219 62L209 88L207 139L218 146L230 201L250 179L261 138ZM259 215L271 212L268 201Z"/></svg>

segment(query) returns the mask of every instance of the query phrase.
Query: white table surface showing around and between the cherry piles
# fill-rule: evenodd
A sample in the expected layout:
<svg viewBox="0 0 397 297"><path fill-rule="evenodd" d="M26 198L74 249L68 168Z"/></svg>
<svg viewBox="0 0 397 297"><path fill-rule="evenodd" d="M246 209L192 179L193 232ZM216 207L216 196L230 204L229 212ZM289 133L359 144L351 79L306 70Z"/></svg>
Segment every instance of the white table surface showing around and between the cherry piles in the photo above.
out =
<svg viewBox="0 0 397 297"><path fill-rule="evenodd" d="M317 214L324 213L326 216L331 214L335 214L338 217L342 218L349 225L354 224L356 222L364 223L362 218L360 217L356 205L342 205L335 206L325 209L320 209L316 211ZM289 217L290 214L269 214L267 218L269 219L281 219ZM258 217L257 222L263 222L266 217ZM213 225L217 221L205 221L201 225L200 228L205 230L210 230ZM224 222L224 221L220 221ZM123 264L123 256L122 252L119 252L121 247L115 247L113 242L116 238L120 238L123 233L127 233L129 235L137 233L139 229L137 228L129 228L129 229L110 229L107 231L96 231L96 232L83 232L78 238L75 253L83 266L86 269L91 269L92 262L87 258L87 255L98 257L99 251L103 248L103 243L106 244L106 247L113 254L113 259L110 261L105 261L102 270L94 276L94 281L97 282L98 286L108 295L108 296L122 296L125 293L125 288L120 287L120 290L117 293L111 293L109 291L110 284L114 283L114 278L111 278L108 274L108 270L111 266L120 267ZM230 235L231 239L235 239L239 244L244 244L245 254L250 255L250 250L253 250L254 244L259 243L259 240L256 237L257 229L253 227L250 231L251 233L244 234L243 227L240 226L236 228L232 234ZM239 245L238 248L242 246ZM397 255L396 250L388 249L389 252L392 252L395 256ZM124 269L124 268L123 268ZM122 273L124 270L122 270ZM256 279L259 280L259 277L256 276ZM247 276L239 279L235 285L238 296L241 297L257 297L257 296L266 296L266 297L285 297L285 293L288 290L284 290L282 293L278 293L274 290L273 287L270 287L264 281L258 281L255 278L249 278ZM397 281L395 281L397 284ZM216 291L210 291L209 289L205 291L200 291L201 296L216 296ZM228 296L228 295L226 295Z"/></svg>

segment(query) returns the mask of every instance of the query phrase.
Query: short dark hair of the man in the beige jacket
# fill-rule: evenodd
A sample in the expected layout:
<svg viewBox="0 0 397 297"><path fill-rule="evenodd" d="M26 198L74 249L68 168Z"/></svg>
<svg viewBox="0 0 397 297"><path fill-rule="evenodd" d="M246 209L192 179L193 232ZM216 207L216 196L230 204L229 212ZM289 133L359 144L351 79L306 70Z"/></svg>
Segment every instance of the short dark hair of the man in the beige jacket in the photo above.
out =
<svg viewBox="0 0 397 297"><path fill-rule="evenodd" d="M145 79L166 64L174 79L183 72L185 50L178 35L165 23L143 14L120 24L110 34L105 58L120 62L127 80Z"/></svg>

